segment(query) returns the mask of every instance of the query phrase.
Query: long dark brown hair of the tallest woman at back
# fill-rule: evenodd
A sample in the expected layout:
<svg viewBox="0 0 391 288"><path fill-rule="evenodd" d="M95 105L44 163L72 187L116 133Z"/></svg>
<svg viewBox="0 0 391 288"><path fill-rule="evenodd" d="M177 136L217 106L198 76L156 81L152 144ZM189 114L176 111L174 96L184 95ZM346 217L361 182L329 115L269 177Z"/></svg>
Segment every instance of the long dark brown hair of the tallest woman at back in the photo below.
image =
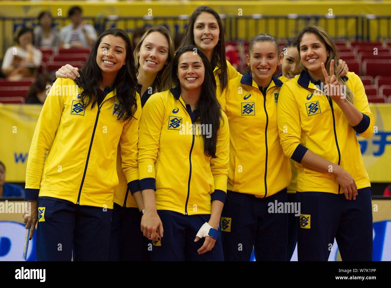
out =
<svg viewBox="0 0 391 288"><path fill-rule="evenodd" d="M206 12L209 14L212 14L213 17L216 18L217 24L219 25L219 42L217 42L217 45L213 49L213 54L212 54L212 65L217 65L221 69L221 86L220 90L221 92L224 91L224 89L227 88L228 86L228 71L227 71L227 62L225 58L225 36L224 36L224 27L222 25L221 18L219 16L219 13L217 13L214 9L208 7L208 6L198 6L195 8L193 14L190 16L189 19L189 24L187 25L187 29L185 32L185 35L183 36L182 42L181 42L181 47L185 45L195 45L194 42L194 34L193 34L193 29L194 29L194 24L195 20L197 20L197 17L199 14Z"/></svg>

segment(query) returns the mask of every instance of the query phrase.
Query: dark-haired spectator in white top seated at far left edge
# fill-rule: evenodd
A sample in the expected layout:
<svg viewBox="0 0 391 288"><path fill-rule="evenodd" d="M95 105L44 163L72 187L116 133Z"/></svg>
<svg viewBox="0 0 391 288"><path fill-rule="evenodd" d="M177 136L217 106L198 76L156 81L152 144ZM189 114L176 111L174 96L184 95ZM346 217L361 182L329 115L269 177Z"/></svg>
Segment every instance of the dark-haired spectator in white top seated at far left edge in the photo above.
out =
<svg viewBox="0 0 391 288"><path fill-rule="evenodd" d="M22 28L17 36L17 45L5 51L2 72L8 80L34 77L42 61L42 52L32 45L33 33L30 28Z"/></svg>

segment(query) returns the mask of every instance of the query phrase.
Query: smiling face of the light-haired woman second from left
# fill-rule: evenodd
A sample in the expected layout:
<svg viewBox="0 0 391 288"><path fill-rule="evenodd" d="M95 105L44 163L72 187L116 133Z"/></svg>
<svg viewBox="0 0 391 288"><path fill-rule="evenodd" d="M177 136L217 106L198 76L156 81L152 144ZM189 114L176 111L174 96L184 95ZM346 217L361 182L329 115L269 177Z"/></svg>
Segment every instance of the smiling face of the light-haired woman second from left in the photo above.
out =
<svg viewBox="0 0 391 288"><path fill-rule="evenodd" d="M169 57L169 42L160 32L149 33L137 53L140 57L138 63L140 68L149 73L157 73L163 69Z"/></svg>

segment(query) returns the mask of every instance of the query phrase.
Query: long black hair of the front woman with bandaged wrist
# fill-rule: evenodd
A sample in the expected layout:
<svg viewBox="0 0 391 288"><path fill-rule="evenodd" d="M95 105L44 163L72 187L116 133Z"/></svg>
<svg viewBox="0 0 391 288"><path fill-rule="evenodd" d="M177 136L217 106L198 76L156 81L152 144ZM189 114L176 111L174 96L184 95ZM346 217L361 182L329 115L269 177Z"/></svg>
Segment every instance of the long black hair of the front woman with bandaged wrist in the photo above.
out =
<svg viewBox="0 0 391 288"><path fill-rule="evenodd" d="M216 98L216 80L213 75L212 67L205 53L195 45L186 45L179 48L172 63L172 79L176 87L181 87L177 76L179 57L188 51L194 53L197 51L197 55L201 57L205 68L204 82L202 83L201 95L198 101L197 111L201 125L212 125L212 137L207 138L206 133L203 133L204 138L204 154L208 157L217 158L216 145L217 145L217 133L220 128L220 120L223 120L221 114L220 104Z"/></svg>

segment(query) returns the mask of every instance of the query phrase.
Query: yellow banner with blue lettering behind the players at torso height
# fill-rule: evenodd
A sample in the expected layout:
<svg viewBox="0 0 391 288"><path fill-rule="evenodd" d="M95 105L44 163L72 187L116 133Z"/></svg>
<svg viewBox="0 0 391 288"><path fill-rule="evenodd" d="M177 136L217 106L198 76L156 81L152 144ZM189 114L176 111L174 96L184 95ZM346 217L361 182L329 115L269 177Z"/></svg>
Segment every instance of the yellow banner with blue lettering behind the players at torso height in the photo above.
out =
<svg viewBox="0 0 391 288"><path fill-rule="evenodd" d="M391 182L391 105L370 107L375 133L369 139L358 136L361 153L371 182ZM41 108L41 105L0 104L0 161L5 164L8 182L25 181L27 156Z"/></svg>

